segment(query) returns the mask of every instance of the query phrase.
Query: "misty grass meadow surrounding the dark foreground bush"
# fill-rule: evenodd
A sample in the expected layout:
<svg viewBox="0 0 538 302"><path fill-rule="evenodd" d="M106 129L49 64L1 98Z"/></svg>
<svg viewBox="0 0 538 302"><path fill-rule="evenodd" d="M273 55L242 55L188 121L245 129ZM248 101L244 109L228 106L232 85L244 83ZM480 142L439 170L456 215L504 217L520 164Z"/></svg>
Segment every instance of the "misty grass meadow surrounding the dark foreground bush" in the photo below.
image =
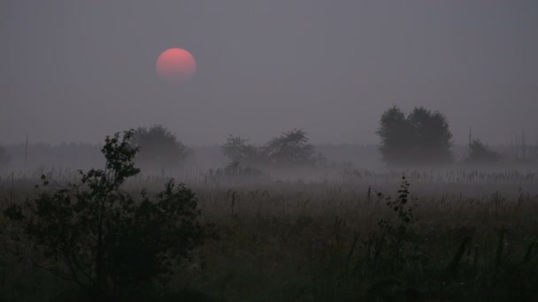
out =
<svg viewBox="0 0 538 302"><path fill-rule="evenodd" d="M48 173L58 182L74 177L68 170ZM2 207L31 198L37 175L2 177ZM218 238L175 265L172 279L159 289L161 300L536 296L537 170L351 169L293 176L186 171L173 177L194 190L202 219L214 223ZM402 177L409 193L398 203ZM125 190L157 192L166 179L138 176ZM2 300L80 298L72 283L8 253L2 253L0 269Z"/></svg>

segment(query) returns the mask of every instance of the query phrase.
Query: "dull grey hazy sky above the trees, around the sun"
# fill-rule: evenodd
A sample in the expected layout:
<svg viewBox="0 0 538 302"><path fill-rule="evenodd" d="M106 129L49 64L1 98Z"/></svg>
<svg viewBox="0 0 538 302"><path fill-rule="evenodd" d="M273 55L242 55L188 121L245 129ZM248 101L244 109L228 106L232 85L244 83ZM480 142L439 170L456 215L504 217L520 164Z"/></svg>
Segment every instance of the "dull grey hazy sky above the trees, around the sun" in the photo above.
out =
<svg viewBox="0 0 538 302"><path fill-rule="evenodd" d="M2 0L0 41L2 143L153 124L373 143L392 104L442 111L457 142L538 140L536 0ZM171 47L196 58L189 85L156 76Z"/></svg>

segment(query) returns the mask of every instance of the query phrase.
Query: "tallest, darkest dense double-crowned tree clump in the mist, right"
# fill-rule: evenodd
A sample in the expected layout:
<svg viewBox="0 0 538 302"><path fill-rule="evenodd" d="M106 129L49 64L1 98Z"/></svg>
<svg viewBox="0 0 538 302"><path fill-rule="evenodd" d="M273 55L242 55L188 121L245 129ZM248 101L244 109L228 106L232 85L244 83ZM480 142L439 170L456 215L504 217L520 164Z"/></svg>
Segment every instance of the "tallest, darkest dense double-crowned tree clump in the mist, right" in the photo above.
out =
<svg viewBox="0 0 538 302"><path fill-rule="evenodd" d="M416 107L406 117L394 106L382 114L377 134L382 160L390 165L453 162L452 133L440 112Z"/></svg>

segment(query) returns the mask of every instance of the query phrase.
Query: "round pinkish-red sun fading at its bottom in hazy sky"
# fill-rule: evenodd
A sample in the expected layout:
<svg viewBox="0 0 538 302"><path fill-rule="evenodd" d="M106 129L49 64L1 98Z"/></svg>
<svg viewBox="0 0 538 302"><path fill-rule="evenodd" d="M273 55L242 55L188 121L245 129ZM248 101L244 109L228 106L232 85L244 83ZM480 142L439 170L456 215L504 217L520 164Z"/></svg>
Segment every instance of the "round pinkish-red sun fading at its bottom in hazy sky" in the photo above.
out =
<svg viewBox="0 0 538 302"><path fill-rule="evenodd" d="M196 61L185 49L167 49L158 57L156 68L166 82L184 84L195 74Z"/></svg>

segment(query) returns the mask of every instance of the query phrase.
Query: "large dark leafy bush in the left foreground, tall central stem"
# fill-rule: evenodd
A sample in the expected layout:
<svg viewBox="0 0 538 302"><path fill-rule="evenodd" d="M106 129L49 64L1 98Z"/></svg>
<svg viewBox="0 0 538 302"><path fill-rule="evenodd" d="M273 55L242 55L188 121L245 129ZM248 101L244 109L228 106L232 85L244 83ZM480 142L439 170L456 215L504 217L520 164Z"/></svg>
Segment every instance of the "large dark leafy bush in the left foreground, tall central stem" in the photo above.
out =
<svg viewBox="0 0 538 302"><path fill-rule="evenodd" d="M170 180L154 197L142 189L137 199L121 189L140 172L133 134L106 138L104 170L79 171L78 183L50 188L4 211L42 253L35 265L79 284L95 299L133 298L164 280L173 263L209 235L198 222L196 195L184 185ZM42 185L51 186L48 177L42 176Z"/></svg>

